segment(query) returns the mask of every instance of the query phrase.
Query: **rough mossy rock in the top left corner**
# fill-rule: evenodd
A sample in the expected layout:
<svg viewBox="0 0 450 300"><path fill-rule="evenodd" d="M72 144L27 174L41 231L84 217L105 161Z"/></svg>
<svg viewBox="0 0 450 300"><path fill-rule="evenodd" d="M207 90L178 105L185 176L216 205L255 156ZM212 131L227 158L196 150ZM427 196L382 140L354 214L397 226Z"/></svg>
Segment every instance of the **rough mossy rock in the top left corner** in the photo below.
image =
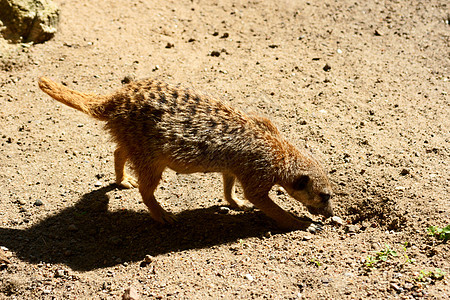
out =
<svg viewBox="0 0 450 300"><path fill-rule="evenodd" d="M0 20L15 42L42 43L56 33L59 8L51 0L0 0Z"/></svg>

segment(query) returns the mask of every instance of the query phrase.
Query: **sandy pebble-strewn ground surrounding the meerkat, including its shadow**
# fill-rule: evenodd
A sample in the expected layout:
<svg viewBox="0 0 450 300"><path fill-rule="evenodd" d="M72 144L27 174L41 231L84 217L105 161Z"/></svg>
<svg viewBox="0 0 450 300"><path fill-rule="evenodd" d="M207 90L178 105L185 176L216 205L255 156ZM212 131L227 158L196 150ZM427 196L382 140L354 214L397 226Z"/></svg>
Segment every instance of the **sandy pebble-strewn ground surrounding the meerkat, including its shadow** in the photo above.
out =
<svg viewBox="0 0 450 300"><path fill-rule="evenodd" d="M427 234L450 224L448 1L57 2L53 40L0 47L0 299L448 299L449 243ZM220 175L168 170L178 222L158 225L114 185L102 123L41 75L158 77L265 115L323 161L345 224L281 232L223 213Z"/></svg>

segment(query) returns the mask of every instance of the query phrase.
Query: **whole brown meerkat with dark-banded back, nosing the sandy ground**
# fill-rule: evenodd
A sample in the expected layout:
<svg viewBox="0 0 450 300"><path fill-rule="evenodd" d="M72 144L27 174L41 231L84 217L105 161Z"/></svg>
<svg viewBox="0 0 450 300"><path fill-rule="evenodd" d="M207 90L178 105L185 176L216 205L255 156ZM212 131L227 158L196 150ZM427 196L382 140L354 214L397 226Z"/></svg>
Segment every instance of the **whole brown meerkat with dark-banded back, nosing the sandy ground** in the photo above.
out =
<svg viewBox="0 0 450 300"><path fill-rule="evenodd" d="M138 187L157 222L175 220L154 196L165 168L183 174L222 173L225 200L233 208L245 209L248 202L235 195L238 180L245 198L281 229L319 228L272 201L268 193L274 185L282 186L310 213L333 215L332 188L323 167L307 150L285 140L267 118L156 79L133 81L109 95L77 92L46 77L40 78L39 87L52 98L106 122L105 128L117 143L117 184ZM125 172L126 161L137 179Z"/></svg>

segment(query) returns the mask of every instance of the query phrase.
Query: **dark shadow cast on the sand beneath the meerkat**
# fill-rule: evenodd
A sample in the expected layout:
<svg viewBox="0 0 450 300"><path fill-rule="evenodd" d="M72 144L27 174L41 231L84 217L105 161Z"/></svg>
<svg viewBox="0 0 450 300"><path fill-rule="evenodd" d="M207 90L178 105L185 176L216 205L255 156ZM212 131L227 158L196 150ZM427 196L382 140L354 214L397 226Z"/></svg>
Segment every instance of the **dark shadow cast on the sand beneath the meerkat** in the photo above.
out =
<svg viewBox="0 0 450 300"><path fill-rule="evenodd" d="M1 244L31 263L89 271L277 230L261 212L220 214L218 206L183 211L175 224L161 225L145 211L109 211L107 193L115 188L112 184L87 193L74 206L27 229L0 227Z"/></svg>

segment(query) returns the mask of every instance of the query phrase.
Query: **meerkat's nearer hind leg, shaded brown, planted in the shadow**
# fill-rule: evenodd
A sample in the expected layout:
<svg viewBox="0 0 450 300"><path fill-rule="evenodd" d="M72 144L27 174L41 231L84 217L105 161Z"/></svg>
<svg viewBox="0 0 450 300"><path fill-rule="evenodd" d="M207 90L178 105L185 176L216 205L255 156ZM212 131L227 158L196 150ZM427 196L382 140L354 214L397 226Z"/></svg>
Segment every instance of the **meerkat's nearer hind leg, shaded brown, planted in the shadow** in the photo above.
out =
<svg viewBox="0 0 450 300"><path fill-rule="evenodd" d="M154 195L156 187L161 180L161 175L162 170L157 171L157 168L152 168L152 166L148 166L145 171L138 172L139 192L153 220L162 224L172 224L176 221L176 217L172 213L164 210L158 201L156 201Z"/></svg>

